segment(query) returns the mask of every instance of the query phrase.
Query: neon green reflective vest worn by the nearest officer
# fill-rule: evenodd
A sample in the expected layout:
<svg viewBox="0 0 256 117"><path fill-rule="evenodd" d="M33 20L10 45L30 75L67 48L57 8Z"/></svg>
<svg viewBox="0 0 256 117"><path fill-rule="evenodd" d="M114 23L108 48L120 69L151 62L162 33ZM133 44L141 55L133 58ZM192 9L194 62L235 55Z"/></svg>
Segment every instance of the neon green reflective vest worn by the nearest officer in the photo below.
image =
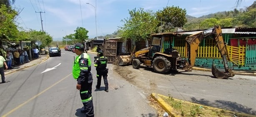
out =
<svg viewBox="0 0 256 117"><path fill-rule="evenodd" d="M87 59L88 60L88 66L87 66L87 70L88 70L88 67L90 67L91 65L91 62L90 62L90 56L87 54L87 53L82 53L83 54L83 58ZM75 61L74 61L74 65L73 65L73 70L72 70L72 74L73 74L73 78L74 79L78 79L78 76L80 75L80 65L79 65L79 60L81 59L81 55L77 56L75 58ZM83 63L84 64L84 63ZM83 69L86 68L86 67L82 67Z"/></svg>

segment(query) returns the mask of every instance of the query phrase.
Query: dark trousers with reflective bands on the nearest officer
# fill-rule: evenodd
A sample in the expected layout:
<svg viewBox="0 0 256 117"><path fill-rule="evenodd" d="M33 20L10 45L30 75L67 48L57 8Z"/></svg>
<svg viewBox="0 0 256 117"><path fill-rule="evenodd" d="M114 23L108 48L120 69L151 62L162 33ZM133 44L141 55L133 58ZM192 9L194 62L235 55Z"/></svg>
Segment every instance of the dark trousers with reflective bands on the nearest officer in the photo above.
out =
<svg viewBox="0 0 256 117"><path fill-rule="evenodd" d="M91 82L91 83L85 82L81 85L81 89L80 89L80 97L81 97L81 100L82 100L82 103L83 103L83 106L85 109L86 117L94 117L92 85L93 85L93 82ZM85 91L88 91L88 92L84 93ZM91 97L91 100L85 101L90 97Z"/></svg>

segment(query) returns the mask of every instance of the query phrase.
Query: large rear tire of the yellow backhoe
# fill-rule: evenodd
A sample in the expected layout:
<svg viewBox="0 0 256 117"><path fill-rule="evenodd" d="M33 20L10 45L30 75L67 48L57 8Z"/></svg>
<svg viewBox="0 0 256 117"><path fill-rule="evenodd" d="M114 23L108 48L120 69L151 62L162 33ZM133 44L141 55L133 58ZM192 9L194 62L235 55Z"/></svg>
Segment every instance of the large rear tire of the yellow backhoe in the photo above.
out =
<svg viewBox="0 0 256 117"><path fill-rule="evenodd" d="M166 74L171 69L171 62L165 57L156 57L153 60L153 69L157 73Z"/></svg>

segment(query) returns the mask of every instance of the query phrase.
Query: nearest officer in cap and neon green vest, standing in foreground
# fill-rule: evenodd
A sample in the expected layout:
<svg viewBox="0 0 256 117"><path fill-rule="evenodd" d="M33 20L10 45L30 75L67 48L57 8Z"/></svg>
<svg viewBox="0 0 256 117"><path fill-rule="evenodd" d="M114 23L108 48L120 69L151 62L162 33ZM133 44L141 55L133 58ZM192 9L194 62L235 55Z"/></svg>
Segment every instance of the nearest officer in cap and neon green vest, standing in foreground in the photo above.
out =
<svg viewBox="0 0 256 117"><path fill-rule="evenodd" d="M84 46L81 43L76 43L74 49L75 54L78 56L75 58L72 74L74 79L77 80L76 88L80 91L80 97L84 105L84 109L82 108L81 112L85 113L86 117L94 117L92 98L93 76L90 73L90 56L84 53Z"/></svg>

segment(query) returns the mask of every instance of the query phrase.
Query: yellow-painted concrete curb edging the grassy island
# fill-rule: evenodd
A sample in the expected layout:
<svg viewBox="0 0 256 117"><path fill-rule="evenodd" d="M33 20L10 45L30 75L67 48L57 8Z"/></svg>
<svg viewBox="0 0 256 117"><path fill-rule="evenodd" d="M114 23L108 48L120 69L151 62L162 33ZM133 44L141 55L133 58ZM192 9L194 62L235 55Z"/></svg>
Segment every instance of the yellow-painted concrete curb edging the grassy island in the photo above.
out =
<svg viewBox="0 0 256 117"><path fill-rule="evenodd" d="M165 101L161 98L161 97L165 97L165 98L169 98L167 96L163 96L161 94L157 94L157 93L151 93L151 97L153 99L155 99L159 105L161 105L161 107L163 107L163 109L168 112L168 114L171 116L171 117L182 117L181 115L177 115L175 113L175 110L173 109L173 107L171 107L170 105L168 105L167 103L165 103ZM173 98L174 100L178 100L178 99L175 99ZM191 103L191 102L187 102L187 101L184 101L184 100L178 100L178 101L183 101L183 102L186 102L186 103ZM200 105L200 104L197 104L197 103L193 103L194 105L198 105L198 106L202 106L202 107L206 107L208 109L211 109L211 110L216 110L216 111L222 111L223 109L220 109L220 108L216 108L216 107L210 107L210 106L206 106L206 105ZM233 111L229 111L229 110L225 110L226 112L229 112L229 113L234 113L234 114L239 114L239 115L243 115L243 117L256 117L256 115L249 115L249 114L245 114L245 113L241 113L241 112L233 112Z"/></svg>

